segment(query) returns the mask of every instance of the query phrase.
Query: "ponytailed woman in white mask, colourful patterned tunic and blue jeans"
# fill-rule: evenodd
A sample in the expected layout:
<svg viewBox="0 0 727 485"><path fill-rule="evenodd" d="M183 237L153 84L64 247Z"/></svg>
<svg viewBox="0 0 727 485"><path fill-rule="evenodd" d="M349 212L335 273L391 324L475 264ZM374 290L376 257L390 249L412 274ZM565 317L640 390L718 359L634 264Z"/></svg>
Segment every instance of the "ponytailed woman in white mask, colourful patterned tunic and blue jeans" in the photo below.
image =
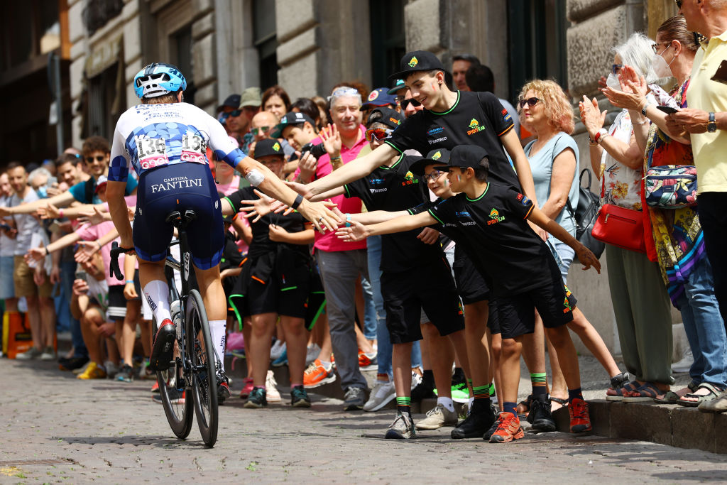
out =
<svg viewBox="0 0 727 485"><path fill-rule="evenodd" d="M669 94L654 87L659 105L687 107L689 76L698 48L693 33L686 28L684 17L672 17L659 26L654 71L659 77L673 76L677 80ZM651 127L648 124L635 126L636 139L646 150L644 170L648 166L694 164L689 140L672 133L666 124L666 113L659 111L656 105L648 104L648 88L643 78L626 66L621 77L623 92L607 89L604 94L614 105L629 109L633 119L642 119L640 111L646 108ZM649 256L659 262L672 304L681 312L694 355L688 387L659 396L657 401L698 406L703 401L710 401L727 385L727 335L715 299L712 268L704 253L702 226L692 207L658 209L646 204L644 207L648 207L644 213L646 239L654 243Z"/></svg>

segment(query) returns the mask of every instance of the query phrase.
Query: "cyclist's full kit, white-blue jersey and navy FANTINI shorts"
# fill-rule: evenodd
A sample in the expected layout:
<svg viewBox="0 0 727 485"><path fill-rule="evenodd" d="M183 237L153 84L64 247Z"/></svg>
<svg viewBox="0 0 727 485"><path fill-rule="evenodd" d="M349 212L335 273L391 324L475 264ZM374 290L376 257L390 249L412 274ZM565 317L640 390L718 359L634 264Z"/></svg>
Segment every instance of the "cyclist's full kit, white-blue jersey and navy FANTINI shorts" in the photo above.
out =
<svg viewBox="0 0 727 485"><path fill-rule="evenodd" d="M172 239L166 216L191 209L197 214L187 226L194 265L206 270L219 264L225 231L208 145L232 167L246 157L219 121L193 105L137 105L119 118L108 180L126 180L130 165L139 175L134 249L140 259L164 260Z"/></svg>

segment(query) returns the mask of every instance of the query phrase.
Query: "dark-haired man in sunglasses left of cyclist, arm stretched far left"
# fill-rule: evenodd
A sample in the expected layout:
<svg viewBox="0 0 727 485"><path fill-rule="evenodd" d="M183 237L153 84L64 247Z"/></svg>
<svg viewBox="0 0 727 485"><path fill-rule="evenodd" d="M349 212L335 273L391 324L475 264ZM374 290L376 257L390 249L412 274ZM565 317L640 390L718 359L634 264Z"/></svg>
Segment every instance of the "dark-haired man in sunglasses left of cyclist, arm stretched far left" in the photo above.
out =
<svg viewBox="0 0 727 485"><path fill-rule="evenodd" d="M52 196L49 199L39 199L15 207L0 207L0 216L33 214L41 207L48 207L51 204L55 207L68 207L74 201L79 201L81 204L101 204L101 200L96 195L96 180L102 175L108 175L108 164L111 155L108 140L104 137L88 137L84 141L81 151L86 170L91 175L88 180L79 182L69 188L68 191ZM137 180L134 177L129 177L126 180L124 195L136 194L137 185L139 185ZM60 217L63 217L63 209L60 211Z"/></svg>

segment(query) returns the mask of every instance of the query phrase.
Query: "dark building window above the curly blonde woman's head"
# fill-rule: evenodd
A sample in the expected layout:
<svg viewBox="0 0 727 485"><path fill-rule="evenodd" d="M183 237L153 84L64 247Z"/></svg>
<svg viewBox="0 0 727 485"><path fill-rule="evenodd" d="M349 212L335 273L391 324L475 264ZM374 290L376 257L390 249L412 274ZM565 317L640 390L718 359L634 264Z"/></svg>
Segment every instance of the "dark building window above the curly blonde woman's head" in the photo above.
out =
<svg viewBox="0 0 727 485"><path fill-rule="evenodd" d="M566 0L509 0L510 101L530 79L555 79L568 88Z"/></svg>

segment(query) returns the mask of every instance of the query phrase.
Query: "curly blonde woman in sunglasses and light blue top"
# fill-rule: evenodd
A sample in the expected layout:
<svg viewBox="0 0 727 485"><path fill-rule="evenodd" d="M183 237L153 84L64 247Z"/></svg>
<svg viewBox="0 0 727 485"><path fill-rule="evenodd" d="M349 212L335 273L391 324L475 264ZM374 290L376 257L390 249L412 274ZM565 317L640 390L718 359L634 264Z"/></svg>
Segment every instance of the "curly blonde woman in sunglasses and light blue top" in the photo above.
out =
<svg viewBox="0 0 727 485"><path fill-rule="evenodd" d="M569 201L574 210L578 204L578 147L569 135L575 127L571 103L554 81L534 80L523 86L518 111L521 124L536 137L526 145L525 154L530 161L538 205L548 217L575 236L576 223L566 209ZM573 249L550 235L546 242L561 267L565 284L574 257ZM612 386L619 387L622 382L626 382L627 375L621 374L601 335L578 308L573 309L573 321L569 328L578 334L588 350L601 362L608 377L611 377ZM554 396L553 401L561 402L568 397L568 390L550 342L548 353L553 368L551 396Z"/></svg>

